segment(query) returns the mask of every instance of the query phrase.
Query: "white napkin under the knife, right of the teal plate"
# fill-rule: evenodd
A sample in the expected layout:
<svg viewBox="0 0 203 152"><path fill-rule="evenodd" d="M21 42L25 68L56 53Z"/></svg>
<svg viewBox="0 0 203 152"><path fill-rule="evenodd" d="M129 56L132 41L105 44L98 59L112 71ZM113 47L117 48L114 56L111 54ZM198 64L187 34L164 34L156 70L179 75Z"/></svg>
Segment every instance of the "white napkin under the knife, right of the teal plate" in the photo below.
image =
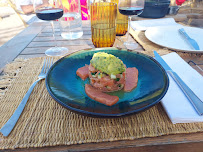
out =
<svg viewBox="0 0 203 152"><path fill-rule="evenodd" d="M186 63L177 53L173 52L162 56L171 69L190 87L190 89L203 101L203 77ZM169 89L161 100L172 123L203 122L182 90L169 76Z"/></svg>

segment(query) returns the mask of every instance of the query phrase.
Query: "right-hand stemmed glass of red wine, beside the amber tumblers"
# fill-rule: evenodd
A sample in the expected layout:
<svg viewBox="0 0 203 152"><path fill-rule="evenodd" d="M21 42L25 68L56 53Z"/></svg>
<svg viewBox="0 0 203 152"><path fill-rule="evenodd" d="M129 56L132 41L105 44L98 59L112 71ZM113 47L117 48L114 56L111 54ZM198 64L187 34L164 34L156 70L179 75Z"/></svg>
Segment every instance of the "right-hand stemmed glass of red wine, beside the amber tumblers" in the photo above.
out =
<svg viewBox="0 0 203 152"><path fill-rule="evenodd" d="M143 12L144 4L145 0L119 0L119 12L123 15L128 16L128 32L126 33L126 40L124 42L124 45L128 49L136 49L138 46L137 43L133 41L130 42L130 22L132 16L138 16Z"/></svg>

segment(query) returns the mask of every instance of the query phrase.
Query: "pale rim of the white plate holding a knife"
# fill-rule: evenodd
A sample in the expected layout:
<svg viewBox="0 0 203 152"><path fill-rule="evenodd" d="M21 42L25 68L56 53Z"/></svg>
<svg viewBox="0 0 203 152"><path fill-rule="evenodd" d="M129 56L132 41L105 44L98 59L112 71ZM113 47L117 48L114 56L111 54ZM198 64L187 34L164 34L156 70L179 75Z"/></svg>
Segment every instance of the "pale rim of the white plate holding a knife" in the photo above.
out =
<svg viewBox="0 0 203 152"><path fill-rule="evenodd" d="M163 48L168 48L168 49L170 49L170 50L175 50L175 51L179 51L179 52L186 52L186 53L200 53L200 54L202 54L203 53L203 50L195 50L195 49L190 49L190 50L181 50L181 49L177 49L177 48L174 48L174 47L169 47L169 46L164 46L164 45L162 45L162 44L159 44L158 42L156 42L155 40L153 40L153 39L151 39L151 37L149 36L149 32L151 31L151 30L153 30L153 29L156 29L156 28L169 28L169 27L173 27L173 28L178 28L177 26L163 26L163 27L161 27L161 26L159 26L159 27L150 27L150 28L148 28L144 33L145 33L145 37L149 40L149 41L151 41L151 42L153 42L153 43L155 43L155 44L157 44L157 45L159 45L159 46L161 46L161 47L163 47ZM187 27L187 26L179 26L179 27L184 27L184 28L195 28L195 29L201 29L201 28L197 28L197 27ZM203 30L203 29L202 29Z"/></svg>

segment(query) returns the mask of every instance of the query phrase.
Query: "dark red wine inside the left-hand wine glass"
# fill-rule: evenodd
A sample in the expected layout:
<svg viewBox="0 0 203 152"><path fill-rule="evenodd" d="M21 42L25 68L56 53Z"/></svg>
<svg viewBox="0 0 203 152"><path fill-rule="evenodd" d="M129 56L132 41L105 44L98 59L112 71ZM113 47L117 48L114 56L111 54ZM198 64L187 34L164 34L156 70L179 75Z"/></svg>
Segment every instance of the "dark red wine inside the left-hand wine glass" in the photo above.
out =
<svg viewBox="0 0 203 152"><path fill-rule="evenodd" d="M49 8L36 11L36 15L39 19L45 21L53 21L63 16L63 9Z"/></svg>

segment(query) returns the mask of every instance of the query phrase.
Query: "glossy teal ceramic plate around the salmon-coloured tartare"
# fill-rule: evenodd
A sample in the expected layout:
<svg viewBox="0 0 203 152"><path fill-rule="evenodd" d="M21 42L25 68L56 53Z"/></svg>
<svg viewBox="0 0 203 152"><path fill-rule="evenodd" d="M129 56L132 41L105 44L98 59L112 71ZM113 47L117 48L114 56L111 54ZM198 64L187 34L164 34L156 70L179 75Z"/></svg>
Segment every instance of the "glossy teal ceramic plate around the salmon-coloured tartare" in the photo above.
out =
<svg viewBox="0 0 203 152"><path fill-rule="evenodd" d="M109 107L90 99L84 86L88 80L81 80L76 71L90 64L95 52L107 52L119 57L127 67L139 71L138 85L131 92L110 93L119 97L117 104ZM157 104L167 92L168 76L162 66L152 57L142 53L117 48L82 50L59 59L50 68L46 87L50 95L69 110L90 116L117 117L137 113Z"/></svg>

